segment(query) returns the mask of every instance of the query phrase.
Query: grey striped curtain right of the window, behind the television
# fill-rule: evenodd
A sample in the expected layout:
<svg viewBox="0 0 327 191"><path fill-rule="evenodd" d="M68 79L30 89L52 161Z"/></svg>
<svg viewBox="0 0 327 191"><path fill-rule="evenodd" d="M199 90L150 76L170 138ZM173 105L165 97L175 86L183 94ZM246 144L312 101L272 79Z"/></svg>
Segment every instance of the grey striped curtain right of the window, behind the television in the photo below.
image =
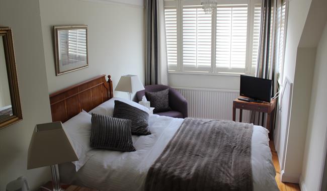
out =
<svg viewBox="0 0 327 191"><path fill-rule="evenodd" d="M275 94L276 86L276 67L274 61L274 50L275 50L275 12L277 7L277 1L281 0L262 0L261 5L261 31L259 41L259 52L258 52L258 64L256 76L271 79L272 85L272 97ZM260 117L261 115L261 117ZM251 112L251 122L256 124L264 123L265 115L258 113L256 117L255 112Z"/></svg>

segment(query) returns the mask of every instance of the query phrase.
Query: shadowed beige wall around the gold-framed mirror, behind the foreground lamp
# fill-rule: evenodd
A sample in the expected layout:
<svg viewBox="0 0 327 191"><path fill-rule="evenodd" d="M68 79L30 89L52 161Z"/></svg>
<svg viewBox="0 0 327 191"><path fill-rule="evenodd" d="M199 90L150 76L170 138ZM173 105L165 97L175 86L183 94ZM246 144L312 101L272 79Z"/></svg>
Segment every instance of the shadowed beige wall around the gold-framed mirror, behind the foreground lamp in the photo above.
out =
<svg viewBox="0 0 327 191"><path fill-rule="evenodd" d="M25 175L34 190L49 167L26 169L34 126L51 121L38 0L0 0L0 25L13 29L23 121L0 130L0 190Z"/></svg>

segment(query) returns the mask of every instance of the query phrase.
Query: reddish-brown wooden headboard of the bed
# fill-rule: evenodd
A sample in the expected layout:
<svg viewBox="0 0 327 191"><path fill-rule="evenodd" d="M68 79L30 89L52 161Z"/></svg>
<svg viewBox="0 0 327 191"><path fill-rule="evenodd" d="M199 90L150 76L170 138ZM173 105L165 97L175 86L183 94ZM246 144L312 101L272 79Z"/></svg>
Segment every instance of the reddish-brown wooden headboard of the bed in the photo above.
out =
<svg viewBox="0 0 327 191"><path fill-rule="evenodd" d="M77 115L81 110L89 112L114 97L111 76L100 75L87 81L51 93L52 121L62 123Z"/></svg>

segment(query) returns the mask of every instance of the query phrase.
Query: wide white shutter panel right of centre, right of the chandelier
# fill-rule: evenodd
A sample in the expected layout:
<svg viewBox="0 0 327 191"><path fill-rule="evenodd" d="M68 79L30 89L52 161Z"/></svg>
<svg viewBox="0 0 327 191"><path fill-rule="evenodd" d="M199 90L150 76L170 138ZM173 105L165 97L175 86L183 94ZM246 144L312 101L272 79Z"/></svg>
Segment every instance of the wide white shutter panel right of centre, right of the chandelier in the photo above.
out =
<svg viewBox="0 0 327 191"><path fill-rule="evenodd" d="M246 67L247 27L247 5L218 6L216 67L228 69Z"/></svg>

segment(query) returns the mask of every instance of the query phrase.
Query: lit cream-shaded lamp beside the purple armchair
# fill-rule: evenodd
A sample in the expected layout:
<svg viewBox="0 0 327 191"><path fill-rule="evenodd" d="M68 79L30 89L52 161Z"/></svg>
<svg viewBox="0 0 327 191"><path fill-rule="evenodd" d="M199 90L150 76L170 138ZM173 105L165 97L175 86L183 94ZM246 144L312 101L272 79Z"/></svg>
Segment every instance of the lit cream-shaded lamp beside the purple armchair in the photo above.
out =
<svg viewBox="0 0 327 191"><path fill-rule="evenodd" d="M115 91L128 92L129 100L132 100L132 93L143 90L144 86L137 75L122 75L118 81Z"/></svg>

